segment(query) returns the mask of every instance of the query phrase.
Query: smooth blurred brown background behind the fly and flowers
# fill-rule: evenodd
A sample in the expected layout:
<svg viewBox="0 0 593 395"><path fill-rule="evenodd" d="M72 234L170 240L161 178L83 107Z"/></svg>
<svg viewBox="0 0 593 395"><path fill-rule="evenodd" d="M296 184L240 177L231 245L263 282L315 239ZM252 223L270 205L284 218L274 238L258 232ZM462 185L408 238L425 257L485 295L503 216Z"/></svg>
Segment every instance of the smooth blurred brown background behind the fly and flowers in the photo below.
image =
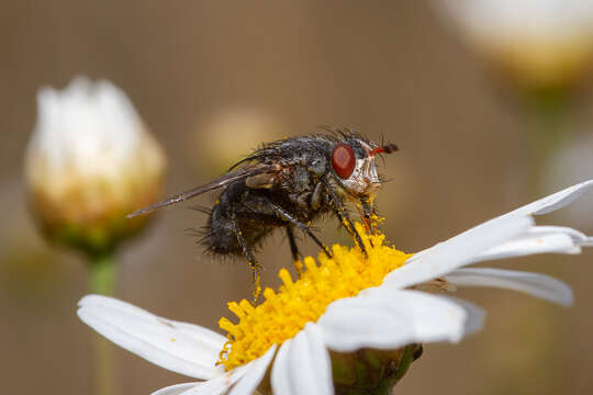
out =
<svg viewBox="0 0 593 395"><path fill-rule="evenodd" d="M63 89L87 75L125 91L168 157L167 194L211 180L261 142L317 125L385 137L400 151L381 168L391 181L378 204L389 239L406 251L591 178L586 54L579 72L525 81L467 40L449 12L414 0L0 3L2 393L92 392L91 330L76 316L89 290L83 257L51 247L25 204L23 158L43 86ZM590 194L538 222L593 234L592 202ZM188 206L160 213L120 249L115 295L217 329L226 302L250 294L249 271L243 260L202 255L184 229L205 216ZM320 227L323 240L350 242L336 221ZM259 255L267 285L291 261L282 236ZM484 330L426 347L396 393L591 391L592 263L591 250L496 263L564 280L575 305L458 292L488 311ZM187 381L113 349L121 394Z"/></svg>

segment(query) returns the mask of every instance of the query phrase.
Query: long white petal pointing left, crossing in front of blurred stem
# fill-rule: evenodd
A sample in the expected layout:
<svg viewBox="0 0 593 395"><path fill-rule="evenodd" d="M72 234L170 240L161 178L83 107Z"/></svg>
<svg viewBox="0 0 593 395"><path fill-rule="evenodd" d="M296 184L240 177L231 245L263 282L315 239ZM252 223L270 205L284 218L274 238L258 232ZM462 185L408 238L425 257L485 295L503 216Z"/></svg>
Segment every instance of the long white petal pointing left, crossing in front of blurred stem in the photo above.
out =
<svg viewBox="0 0 593 395"><path fill-rule="evenodd" d="M226 339L205 328L99 295L85 296L78 316L118 346L170 371L197 379L224 371L215 363Z"/></svg>

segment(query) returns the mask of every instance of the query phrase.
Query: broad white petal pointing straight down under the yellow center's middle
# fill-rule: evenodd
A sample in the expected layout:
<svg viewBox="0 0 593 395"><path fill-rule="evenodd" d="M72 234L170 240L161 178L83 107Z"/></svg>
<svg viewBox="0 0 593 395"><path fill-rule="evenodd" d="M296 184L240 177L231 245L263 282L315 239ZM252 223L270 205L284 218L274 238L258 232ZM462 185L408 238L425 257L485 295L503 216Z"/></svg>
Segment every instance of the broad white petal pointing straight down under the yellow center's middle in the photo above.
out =
<svg viewBox="0 0 593 395"><path fill-rule="evenodd" d="M321 329L309 323L286 341L273 363L271 385L275 394L334 394L329 352Z"/></svg>

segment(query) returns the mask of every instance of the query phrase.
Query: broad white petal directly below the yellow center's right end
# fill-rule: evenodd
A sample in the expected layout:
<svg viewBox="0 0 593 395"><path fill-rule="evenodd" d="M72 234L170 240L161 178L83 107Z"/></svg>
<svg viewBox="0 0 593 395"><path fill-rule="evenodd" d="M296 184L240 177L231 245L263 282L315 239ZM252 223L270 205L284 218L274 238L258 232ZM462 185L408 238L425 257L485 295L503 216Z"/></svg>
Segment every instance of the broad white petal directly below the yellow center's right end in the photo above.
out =
<svg viewBox="0 0 593 395"><path fill-rule="evenodd" d="M466 335L467 319L466 308L444 297L380 286L332 303L317 323L329 349L348 352L457 342Z"/></svg>

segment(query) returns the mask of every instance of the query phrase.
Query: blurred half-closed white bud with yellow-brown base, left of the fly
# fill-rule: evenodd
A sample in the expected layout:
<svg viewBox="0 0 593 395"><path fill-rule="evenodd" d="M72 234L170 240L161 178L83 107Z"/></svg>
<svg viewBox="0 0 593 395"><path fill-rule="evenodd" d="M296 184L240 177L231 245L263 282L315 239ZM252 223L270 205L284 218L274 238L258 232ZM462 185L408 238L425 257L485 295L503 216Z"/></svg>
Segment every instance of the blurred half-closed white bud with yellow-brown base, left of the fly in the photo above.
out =
<svg viewBox="0 0 593 395"><path fill-rule="evenodd" d="M160 195L165 155L124 92L76 78L41 89L25 156L31 207L52 240L112 247L141 226L124 214Z"/></svg>

